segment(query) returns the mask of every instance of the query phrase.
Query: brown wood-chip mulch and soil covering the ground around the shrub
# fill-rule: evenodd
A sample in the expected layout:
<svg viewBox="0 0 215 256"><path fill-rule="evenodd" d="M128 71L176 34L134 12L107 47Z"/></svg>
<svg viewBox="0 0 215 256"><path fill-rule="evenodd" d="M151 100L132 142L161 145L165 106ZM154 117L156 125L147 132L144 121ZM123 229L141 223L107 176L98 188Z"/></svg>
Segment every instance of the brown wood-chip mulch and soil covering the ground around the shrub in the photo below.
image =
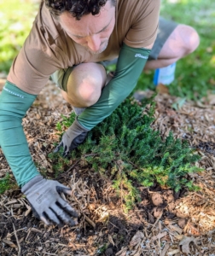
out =
<svg viewBox="0 0 215 256"><path fill-rule="evenodd" d="M78 225L61 229L44 225L32 217L25 196L15 186L0 195L0 255L215 255L215 96L205 102L183 102L166 92L161 88L155 97L153 128L162 137L172 131L201 155L196 165L205 171L190 175L200 191L176 194L168 188L139 187L142 201L125 213L107 178L83 160L70 160L68 166L59 167L64 172L59 170L57 180L73 189L67 201L81 212ZM23 119L33 160L49 178L55 178L48 157L59 141L55 125L61 113L68 116L71 111L49 82ZM0 149L0 177L7 172L14 181Z"/></svg>

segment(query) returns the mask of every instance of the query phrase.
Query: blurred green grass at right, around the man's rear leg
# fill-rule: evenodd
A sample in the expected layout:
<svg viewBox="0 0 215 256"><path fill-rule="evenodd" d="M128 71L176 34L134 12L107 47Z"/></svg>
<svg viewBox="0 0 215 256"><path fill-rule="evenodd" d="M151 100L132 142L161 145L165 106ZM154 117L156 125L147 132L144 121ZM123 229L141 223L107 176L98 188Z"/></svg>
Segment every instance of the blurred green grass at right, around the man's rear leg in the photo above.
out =
<svg viewBox="0 0 215 256"><path fill-rule="evenodd" d="M176 79L170 85L171 95L199 100L208 90L215 93L215 3L204 0L163 0L160 15L178 23L193 26L200 35L200 46L194 53L177 61ZM137 89L154 90L154 72L142 74Z"/></svg>

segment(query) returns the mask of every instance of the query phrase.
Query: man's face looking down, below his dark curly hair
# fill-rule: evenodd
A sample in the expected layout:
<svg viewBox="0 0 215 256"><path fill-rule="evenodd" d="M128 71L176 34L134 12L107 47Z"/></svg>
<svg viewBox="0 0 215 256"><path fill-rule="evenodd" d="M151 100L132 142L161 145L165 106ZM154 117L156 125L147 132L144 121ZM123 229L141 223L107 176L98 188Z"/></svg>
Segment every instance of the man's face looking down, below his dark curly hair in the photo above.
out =
<svg viewBox="0 0 215 256"><path fill-rule="evenodd" d="M115 7L111 1L94 15L84 15L76 20L70 13L60 15L59 21L67 35L92 54L99 54L108 46L108 40L115 25Z"/></svg>

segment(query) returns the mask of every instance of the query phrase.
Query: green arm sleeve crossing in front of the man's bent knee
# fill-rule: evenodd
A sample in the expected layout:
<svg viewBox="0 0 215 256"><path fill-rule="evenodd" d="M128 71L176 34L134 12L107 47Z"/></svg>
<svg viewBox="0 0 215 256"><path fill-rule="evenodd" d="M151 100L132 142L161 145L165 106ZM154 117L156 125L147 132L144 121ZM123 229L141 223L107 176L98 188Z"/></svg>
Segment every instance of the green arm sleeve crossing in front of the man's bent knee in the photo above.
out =
<svg viewBox="0 0 215 256"><path fill-rule="evenodd" d="M80 125L91 130L113 113L113 110L135 88L150 51L150 49L131 48L123 44L113 79L102 90L98 102L90 108L86 108L78 116Z"/></svg>

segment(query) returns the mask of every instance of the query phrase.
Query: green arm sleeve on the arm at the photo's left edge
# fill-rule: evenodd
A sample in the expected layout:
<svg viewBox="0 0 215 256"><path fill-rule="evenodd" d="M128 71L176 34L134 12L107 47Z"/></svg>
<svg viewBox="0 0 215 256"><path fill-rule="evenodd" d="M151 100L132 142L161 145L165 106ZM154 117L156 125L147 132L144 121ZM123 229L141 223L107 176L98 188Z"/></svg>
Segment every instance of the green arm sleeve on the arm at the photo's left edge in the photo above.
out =
<svg viewBox="0 0 215 256"><path fill-rule="evenodd" d="M35 98L8 81L0 95L0 146L20 186L39 174L21 125Z"/></svg>

